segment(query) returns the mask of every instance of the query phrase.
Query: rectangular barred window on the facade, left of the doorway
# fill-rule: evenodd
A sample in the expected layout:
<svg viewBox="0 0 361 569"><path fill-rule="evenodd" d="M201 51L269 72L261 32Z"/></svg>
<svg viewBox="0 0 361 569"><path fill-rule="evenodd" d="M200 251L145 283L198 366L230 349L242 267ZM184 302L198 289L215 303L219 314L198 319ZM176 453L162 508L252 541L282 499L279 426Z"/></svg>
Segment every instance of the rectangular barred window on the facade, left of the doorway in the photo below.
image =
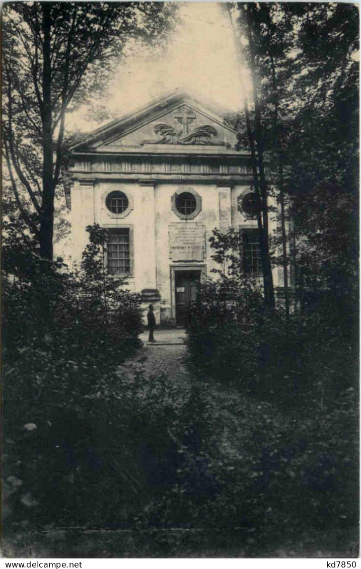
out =
<svg viewBox="0 0 361 569"><path fill-rule="evenodd" d="M132 273L130 254L130 229L110 229L112 236L108 241L108 271L113 275L125 277Z"/></svg>

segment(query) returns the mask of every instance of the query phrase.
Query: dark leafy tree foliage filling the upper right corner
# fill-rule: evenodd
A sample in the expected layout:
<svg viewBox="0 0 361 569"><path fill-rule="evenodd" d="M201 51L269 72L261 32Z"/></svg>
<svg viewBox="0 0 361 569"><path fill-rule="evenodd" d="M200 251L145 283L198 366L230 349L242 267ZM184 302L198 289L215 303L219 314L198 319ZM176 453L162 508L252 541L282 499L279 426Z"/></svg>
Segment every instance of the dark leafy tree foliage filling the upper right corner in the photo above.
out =
<svg viewBox="0 0 361 569"><path fill-rule="evenodd" d="M330 187L343 196L347 209L356 200L358 10L326 3L230 6L237 21L241 60L252 80L244 112L230 120L239 130L240 147L248 147L253 156L256 191L258 185L262 189L263 153L269 182L263 193L265 189L267 196L274 193L280 206L276 241L282 257L278 262L284 267L286 284L290 263L295 261L302 281L308 278L307 262L303 253L298 257L294 244L287 242L286 223L294 222L293 240L305 245L301 249L309 247L317 257L313 235L323 232L323 220L322 214L315 213L317 207L320 211L325 207L326 193L327 199L333 199ZM313 208L313 229L305 213L308 204ZM351 227L355 228L354 222ZM349 230L350 234L355 236L355 229L353 233ZM266 296L266 286L264 291ZM288 297L286 287L287 314Z"/></svg>

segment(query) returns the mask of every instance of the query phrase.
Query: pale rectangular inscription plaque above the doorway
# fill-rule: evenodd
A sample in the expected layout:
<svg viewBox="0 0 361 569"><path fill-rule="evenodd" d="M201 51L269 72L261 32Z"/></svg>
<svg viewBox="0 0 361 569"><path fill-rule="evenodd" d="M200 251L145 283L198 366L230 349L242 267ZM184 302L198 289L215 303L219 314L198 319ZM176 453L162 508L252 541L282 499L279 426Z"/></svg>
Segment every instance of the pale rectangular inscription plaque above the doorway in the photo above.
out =
<svg viewBox="0 0 361 569"><path fill-rule="evenodd" d="M172 261L203 261L206 254L206 226L174 223L169 226L169 257Z"/></svg>

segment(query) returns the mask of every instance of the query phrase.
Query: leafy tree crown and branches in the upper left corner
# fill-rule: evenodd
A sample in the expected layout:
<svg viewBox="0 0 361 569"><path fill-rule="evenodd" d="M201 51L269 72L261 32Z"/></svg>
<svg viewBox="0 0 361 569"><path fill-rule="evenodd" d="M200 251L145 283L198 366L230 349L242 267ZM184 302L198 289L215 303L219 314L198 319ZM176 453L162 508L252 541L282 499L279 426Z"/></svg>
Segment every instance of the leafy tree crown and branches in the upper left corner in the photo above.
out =
<svg viewBox="0 0 361 569"><path fill-rule="evenodd" d="M17 207L43 257L53 256L54 200L69 137L66 112L99 96L134 40L162 44L174 11L171 2L5 6L4 154Z"/></svg>

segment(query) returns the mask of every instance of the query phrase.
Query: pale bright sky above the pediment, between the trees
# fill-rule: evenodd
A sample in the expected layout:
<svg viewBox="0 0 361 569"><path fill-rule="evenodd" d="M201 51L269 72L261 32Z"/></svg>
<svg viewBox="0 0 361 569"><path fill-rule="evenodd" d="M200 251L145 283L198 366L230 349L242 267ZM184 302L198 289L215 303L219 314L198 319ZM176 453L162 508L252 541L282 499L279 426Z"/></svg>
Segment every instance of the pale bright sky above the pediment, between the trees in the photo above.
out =
<svg viewBox="0 0 361 569"><path fill-rule="evenodd" d="M178 87L232 110L241 107L232 31L219 5L188 2L181 7L181 17L162 59L137 55L120 65L106 101L110 112L121 117ZM71 122L85 131L99 126L81 113L72 114Z"/></svg>

